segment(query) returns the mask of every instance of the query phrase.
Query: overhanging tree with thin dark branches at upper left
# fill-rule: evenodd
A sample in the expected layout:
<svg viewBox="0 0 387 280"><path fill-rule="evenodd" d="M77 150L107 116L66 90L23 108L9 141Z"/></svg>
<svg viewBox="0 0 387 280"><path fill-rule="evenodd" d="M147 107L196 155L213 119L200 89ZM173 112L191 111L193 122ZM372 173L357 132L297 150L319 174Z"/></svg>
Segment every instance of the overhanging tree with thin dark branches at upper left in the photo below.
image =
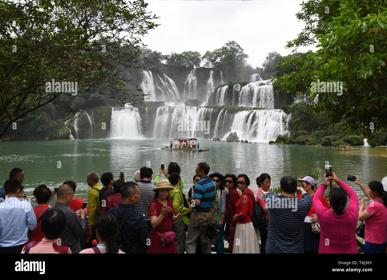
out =
<svg viewBox="0 0 387 280"><path fill-rule="evenodd" d="M120 71L138 67L140 36L158 26L146 7L143 0L1 1L0 138L22 116L64 94L142 102L144 94L128 90Z"/></svg>

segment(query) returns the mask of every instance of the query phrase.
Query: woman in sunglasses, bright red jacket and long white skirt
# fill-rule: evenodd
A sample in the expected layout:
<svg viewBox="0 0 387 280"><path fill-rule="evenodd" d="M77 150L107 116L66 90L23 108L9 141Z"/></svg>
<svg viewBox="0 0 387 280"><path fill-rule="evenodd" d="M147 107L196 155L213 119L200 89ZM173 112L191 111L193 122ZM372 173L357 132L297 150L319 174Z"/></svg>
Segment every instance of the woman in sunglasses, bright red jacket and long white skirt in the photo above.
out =
<svg viewBox="0 0 387 280"><path fill-rule="evenodd" d="M253 227L250 217L253 215L254 194L248 188L250 179L246 174L237 177L236 184L242 191L241 198L236 203L236 221L233 254L259 254L259 241L257 230Z"/></svg>

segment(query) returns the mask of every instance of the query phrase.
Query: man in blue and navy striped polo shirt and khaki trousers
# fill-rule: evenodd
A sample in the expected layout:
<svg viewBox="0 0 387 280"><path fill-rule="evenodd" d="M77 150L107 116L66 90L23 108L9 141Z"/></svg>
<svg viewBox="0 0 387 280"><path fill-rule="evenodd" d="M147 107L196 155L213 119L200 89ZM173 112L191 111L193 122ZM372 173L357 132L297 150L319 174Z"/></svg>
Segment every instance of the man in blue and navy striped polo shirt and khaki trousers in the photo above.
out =
<svg viewBox="0 0 387 280"><path fill-rule="evenodd" d="M207 176L210 171L210 167L205 162L200 162L196 167L196 176L200 177L200 181L196 183L194 188L194 208L188 224L187 239L185 241L185 250L187 254L196 253L197 239L202 234L204 227L195 227L195 216L202 213L210 213L211 208L215 204L215 183L211 178ZM202 252L211 254L211 246L207 246L204 242L202 243Z"/></svg>

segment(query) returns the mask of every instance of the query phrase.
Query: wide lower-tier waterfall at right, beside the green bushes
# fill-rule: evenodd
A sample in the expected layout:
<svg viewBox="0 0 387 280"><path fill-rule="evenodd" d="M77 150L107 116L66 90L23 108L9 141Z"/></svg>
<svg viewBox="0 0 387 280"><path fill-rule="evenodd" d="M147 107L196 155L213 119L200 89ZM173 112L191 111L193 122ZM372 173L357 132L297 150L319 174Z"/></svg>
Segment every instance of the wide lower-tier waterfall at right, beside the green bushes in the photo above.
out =
<svg viewBox="0 0 387 280"><path fill-rule="evenodd" d="M290 118L281 109L240 111L233 117L230 130L223 134L223 140L226 140L230 132L236 132L239 140L274 141L280 134L290 135Z"/></svg>

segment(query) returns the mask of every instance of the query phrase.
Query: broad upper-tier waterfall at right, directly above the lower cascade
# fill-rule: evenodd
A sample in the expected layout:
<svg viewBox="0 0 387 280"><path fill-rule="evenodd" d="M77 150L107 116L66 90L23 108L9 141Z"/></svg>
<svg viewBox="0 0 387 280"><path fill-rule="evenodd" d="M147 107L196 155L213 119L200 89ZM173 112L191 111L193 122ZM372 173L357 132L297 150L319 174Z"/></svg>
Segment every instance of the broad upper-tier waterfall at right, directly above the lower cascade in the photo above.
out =
<svg viewBox="0 0 387 280"><path fill-rule="evenodd" d="M274 109L274 88L270 80L251 82L242 87L238 106Z"/></svg>

